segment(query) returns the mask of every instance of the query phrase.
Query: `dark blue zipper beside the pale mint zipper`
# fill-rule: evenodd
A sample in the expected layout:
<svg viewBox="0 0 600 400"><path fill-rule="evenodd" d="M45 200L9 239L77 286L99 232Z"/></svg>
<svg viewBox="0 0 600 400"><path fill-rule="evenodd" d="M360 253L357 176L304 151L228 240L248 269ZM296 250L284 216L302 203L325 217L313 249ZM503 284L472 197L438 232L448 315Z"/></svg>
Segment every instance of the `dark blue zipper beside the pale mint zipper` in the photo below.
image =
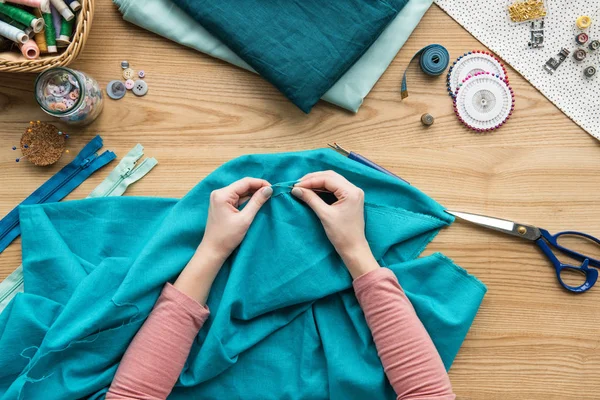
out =
<svg viewBox="0 0 600 400"><path fill-rule="evenodd" d="M96 152L101 148L102 138L96 136L73 161L48 179L19 205L50 203L63 199L95 171L116 158L115 153L108 150L98 155ZM0 221L0 253L20 233L19 206L17 206Z"/></svg>

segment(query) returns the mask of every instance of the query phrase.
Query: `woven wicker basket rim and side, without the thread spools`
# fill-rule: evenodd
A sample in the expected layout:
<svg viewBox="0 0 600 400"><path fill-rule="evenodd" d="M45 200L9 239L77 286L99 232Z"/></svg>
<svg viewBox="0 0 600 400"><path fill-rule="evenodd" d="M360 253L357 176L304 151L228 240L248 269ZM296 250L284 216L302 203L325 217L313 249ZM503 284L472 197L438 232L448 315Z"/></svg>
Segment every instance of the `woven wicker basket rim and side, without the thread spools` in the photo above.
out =
<svg viewBox="0 0 600 400"><path fill-rule="evenodd" d="M52 67L69 65L77 58L92 27L94 0L82 0L71 44L58 55L44 54L37 60L3 60L0 53L0 72L42 72Z"/></svg>

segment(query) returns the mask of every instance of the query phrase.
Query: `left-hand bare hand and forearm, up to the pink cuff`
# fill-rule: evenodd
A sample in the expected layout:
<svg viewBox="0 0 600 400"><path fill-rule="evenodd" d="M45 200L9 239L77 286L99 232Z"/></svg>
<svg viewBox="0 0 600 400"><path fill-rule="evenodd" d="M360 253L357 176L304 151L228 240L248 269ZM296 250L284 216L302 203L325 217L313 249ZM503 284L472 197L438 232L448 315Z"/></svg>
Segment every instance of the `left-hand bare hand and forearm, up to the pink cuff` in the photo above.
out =
<svg viewBox="0 0 600 400"><path fill-rule="evenodd" d="M255 178L244 178L213 191L204 237L175 287L205 304L221 266L240 245L256 213L272 194L269 182ZM246 201L248 204L238 210Z"/></svg>

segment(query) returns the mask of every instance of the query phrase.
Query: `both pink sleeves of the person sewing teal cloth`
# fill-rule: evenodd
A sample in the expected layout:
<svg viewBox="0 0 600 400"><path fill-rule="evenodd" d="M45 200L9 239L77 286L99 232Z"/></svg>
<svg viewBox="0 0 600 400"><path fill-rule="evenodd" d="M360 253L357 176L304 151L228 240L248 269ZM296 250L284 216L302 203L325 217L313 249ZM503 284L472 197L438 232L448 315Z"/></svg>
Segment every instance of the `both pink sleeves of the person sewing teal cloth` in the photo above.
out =
<svg viewBox="0 0 600 400"><path fill-rule="evenodd" d="M442 361L395 275L386 268L354 281L385 373L398 400L454 400ZM167 284L125 352L107 400L165 399L209 311Z"/></svg>

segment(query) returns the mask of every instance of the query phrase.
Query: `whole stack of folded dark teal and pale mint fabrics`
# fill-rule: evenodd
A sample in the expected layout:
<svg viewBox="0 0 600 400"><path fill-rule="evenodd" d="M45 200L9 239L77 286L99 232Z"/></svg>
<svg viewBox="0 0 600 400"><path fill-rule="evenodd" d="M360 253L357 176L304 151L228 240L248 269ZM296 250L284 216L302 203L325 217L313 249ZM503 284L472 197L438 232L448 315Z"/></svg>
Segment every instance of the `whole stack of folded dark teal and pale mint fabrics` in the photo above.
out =
<svg viewBox="0 0 600 400"><path fill-rule="evenodd" d="M258 72L302 111L358 111L432 0L113 0L125 20Z"/></svg>

